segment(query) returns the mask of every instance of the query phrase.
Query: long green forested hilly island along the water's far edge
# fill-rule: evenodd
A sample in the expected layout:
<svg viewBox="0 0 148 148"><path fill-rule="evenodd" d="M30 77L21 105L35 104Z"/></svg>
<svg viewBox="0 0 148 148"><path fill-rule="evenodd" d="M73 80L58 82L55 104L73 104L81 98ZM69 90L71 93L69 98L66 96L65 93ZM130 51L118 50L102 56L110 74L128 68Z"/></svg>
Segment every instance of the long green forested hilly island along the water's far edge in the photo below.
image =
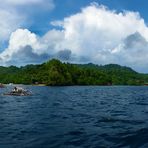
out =
<svg viewBox="0 0 148 148"><path fill-rule="evenodd" d="M70 64L53 59L40 65L0 67L0 83L64 86L144 85L147 82L148 75L116 64Z"/></svg>

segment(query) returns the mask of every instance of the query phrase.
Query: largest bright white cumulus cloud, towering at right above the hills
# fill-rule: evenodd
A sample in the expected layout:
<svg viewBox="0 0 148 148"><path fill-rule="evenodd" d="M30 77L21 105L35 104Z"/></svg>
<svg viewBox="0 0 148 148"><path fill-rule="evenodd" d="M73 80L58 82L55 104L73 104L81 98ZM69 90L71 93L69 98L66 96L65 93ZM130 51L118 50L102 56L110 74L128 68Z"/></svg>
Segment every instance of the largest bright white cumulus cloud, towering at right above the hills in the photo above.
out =
<svg viewBox="0 0 148 148"><path fill-rule="evenodd" d="M148 54L148 27L138 12L116 12L93 4L64 18L63 21L55 21L52 24L63 27L63 48L71 49L72 53L79 57L87 57L89 61L98 64L117 63L132 66L136 70L142 70L142 67L145 69L148 64L144 60ZM145 42L134 38L137 43L133 43L133 47L125 46L128 36L135 33Z"/></svg>

